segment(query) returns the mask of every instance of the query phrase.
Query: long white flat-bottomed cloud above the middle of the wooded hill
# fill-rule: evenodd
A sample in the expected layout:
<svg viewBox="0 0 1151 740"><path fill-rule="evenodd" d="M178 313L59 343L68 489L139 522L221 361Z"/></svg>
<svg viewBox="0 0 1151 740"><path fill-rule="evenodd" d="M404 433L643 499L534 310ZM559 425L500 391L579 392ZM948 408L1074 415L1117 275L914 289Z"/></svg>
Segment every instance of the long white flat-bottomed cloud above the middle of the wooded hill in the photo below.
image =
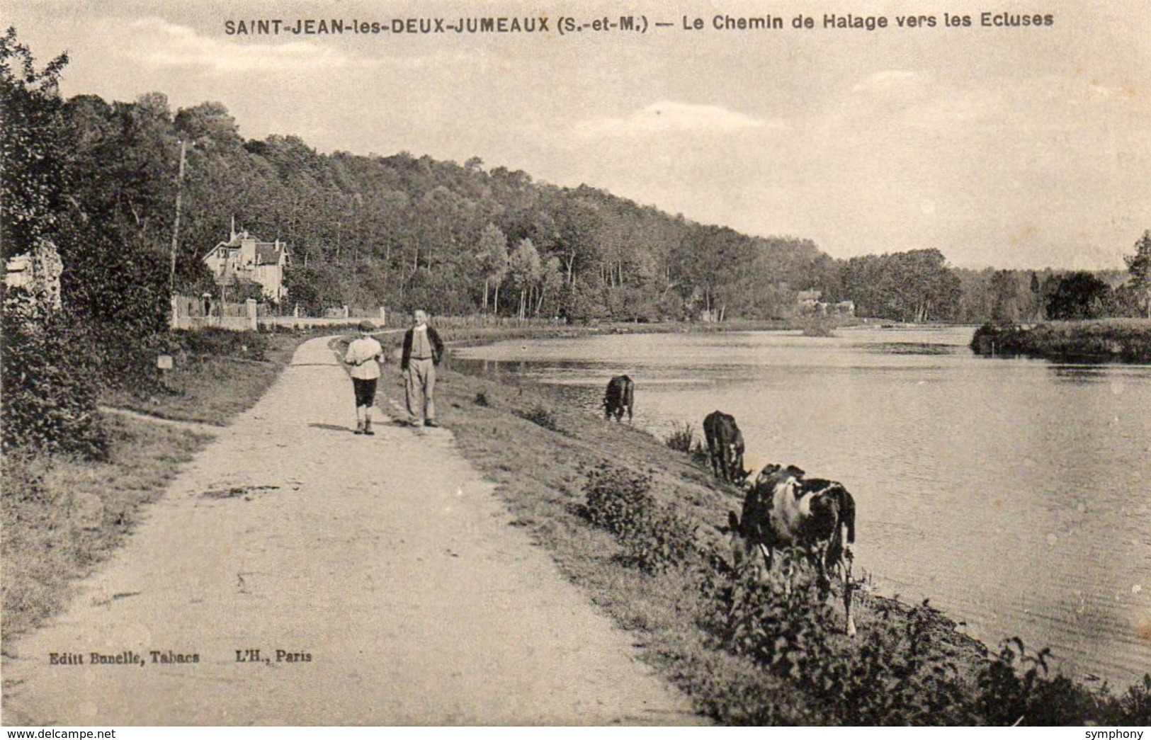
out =
<svg viewBox="0 0 1151 740"><path fill-rule="evenodd" d="M761 121L721 106L664 100L623 117L596 116L576 123L585 138L645 137L666 133L731 133L750 129L783 129L778 120Z"/></svg>

